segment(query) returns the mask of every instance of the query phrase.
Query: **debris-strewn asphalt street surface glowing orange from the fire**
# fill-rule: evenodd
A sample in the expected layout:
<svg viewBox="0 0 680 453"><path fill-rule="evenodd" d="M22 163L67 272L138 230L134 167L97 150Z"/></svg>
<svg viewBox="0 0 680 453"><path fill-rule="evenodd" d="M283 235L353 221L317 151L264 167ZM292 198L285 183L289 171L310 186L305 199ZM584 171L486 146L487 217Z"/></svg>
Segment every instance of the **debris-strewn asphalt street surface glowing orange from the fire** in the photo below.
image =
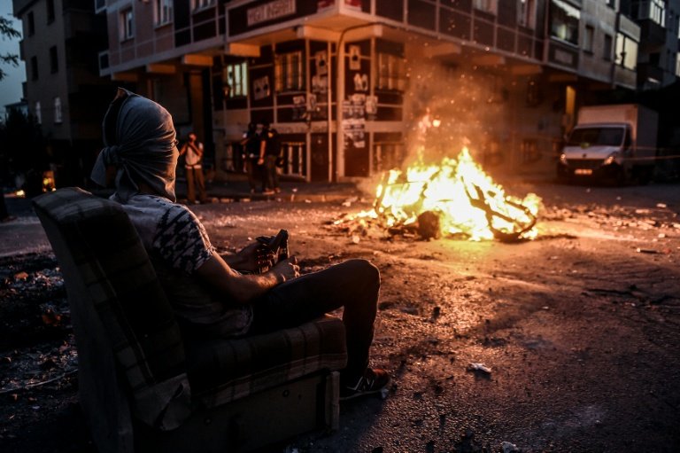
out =
<svg viewBox="0 0 680 453"><path fill-rule="evenodd" d="M274 219L303 272L353 257L381 269L372 360L392 374L387 399L344 404L339 432L269 451L680 448L680 200L583 202L596 193L545 197L537 238L519 244L385 230L352 218L363 199L196 207L220 253ZM53 255L0 259L0 296L0 446L92 451Z"/></svg>

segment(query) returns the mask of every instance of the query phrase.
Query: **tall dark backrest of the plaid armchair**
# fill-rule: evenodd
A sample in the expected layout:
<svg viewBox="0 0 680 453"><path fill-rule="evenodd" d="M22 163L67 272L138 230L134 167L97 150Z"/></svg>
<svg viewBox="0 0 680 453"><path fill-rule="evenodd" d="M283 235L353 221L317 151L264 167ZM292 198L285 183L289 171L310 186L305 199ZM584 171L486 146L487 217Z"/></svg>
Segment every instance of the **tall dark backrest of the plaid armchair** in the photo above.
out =
<svg viewBox="0 0 680 453"><path fill-rule="evenodd" d="M64 275L81 380L98 400L93 410L117 394L106 387L122 385L137 418L160 429L179 426L190 412L182 336L128 215L78 188L33 204ZM120 379L110 375L111 363Z"/></svg>

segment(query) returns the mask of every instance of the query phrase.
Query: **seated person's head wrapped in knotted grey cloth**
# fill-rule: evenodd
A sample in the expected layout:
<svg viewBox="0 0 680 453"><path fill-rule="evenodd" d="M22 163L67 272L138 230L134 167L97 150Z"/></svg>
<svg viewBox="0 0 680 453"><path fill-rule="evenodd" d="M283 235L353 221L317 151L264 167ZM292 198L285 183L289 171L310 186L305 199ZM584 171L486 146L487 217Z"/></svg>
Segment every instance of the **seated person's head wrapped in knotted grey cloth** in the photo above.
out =
<svg viewBox="0 0 680 453"><path fill-rule="evenodd" d="M115 166L120 201L139 192L139 184L175 201L178 151L170 113L151 99L119 88L104 115L103 129L105 147L92 168L92 180L106 185L106 168Z"/></svg>

